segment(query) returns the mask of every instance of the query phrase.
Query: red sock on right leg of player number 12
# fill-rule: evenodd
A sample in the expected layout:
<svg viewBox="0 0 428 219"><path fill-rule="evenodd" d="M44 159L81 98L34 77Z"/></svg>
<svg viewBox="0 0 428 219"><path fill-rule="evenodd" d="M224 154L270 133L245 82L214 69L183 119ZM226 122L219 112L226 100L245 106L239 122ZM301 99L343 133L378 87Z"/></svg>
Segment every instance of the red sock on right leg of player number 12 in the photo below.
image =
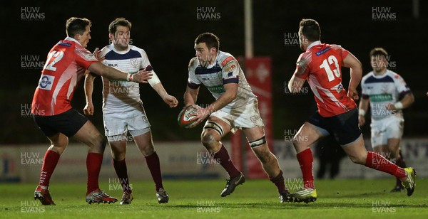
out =
<svg viewBox="0 0 428 219"><path fill-rule="evenodd" d="M103 154L88 153L88 156L86 156L86 169L88 171L88 187L86 196L99 187L98 176L100 175L102 163Z"/></svg>

